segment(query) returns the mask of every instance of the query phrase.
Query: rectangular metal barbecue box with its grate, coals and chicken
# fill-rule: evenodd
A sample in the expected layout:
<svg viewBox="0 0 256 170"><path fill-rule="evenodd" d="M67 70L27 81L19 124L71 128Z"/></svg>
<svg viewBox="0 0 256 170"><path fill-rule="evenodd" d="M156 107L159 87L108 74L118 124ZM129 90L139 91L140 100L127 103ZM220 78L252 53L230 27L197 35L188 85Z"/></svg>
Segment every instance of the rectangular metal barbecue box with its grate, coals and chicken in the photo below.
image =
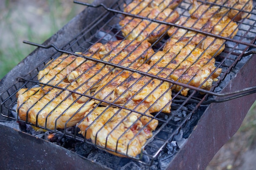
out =
<svg viewBox="0 0 256 170"><path fill-rule="evenodd" d="M256 2L74 2L0 81L1 169L204 170L256 99Z"/></svg>

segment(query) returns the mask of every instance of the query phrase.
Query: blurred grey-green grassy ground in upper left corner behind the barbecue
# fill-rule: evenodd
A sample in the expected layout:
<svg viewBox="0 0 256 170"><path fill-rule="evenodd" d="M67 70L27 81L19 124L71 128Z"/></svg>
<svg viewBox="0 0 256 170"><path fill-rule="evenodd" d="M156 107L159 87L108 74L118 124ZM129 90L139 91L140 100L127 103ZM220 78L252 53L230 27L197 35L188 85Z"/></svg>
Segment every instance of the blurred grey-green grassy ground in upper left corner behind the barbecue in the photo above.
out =
<svg viewBox="0 0 256 170"><path fill-rule="evenodd" d="M84 8L72 0L0 1L0 79L36 49L23 40L42 44Z"/></svg>

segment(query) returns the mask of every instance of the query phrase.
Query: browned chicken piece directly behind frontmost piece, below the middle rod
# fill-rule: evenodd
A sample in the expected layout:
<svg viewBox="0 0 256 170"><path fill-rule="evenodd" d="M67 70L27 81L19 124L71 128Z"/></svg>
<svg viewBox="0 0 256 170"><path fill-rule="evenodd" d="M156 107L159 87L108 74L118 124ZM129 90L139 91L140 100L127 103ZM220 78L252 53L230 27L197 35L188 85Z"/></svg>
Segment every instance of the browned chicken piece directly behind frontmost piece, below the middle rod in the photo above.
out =
<svg viewBox="0 0 256 170"><path fill-rule="evenodd" d="M147 72L149 68L148 64L143 64L138 70ZM142 102L150 113L171 112L169 83L121 69L116 69L110 77L103 79L94 97L127 108Z"/></svg>

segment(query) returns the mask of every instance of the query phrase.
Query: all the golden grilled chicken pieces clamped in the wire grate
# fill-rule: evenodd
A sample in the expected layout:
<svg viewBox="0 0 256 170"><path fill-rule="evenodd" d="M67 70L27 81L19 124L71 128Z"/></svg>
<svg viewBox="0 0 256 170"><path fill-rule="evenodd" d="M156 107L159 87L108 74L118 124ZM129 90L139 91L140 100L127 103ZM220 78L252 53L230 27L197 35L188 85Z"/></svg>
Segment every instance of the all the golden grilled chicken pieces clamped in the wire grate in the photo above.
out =
<svg viewBox="0 0 256 170"><path fill-rule="evenodd" d="M191 15L179 18L180 2L134 0L124 11L233 38L234 21L252 10L251 0L209 1L223 7L194 0ZM87 53L62 54L47 63L38 73L39 86L17 93L20 119L53 130L77 126L108 152L135 157L158 125L153 113L171 113L172 91L186 96L190 90L160 78L209 90L221 73L214 58L225 48L221 38L131 16L119 24L127 40L97 43ZM151 44L167 33L163 48L153 51Z"/></svg>

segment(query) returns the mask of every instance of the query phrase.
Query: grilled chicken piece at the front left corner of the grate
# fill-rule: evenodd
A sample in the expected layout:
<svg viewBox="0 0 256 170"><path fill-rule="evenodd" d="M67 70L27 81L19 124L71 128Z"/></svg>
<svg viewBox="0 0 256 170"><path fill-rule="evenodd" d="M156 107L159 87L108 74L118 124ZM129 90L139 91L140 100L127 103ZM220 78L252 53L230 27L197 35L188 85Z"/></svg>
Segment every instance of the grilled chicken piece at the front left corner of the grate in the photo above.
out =
<svg viewBox="0 0 256 170"><path fill-rule="evenodd" d="M22 88L17 93L17 113L24 121L52 130L75 126L92 108L94 100L78 103L73 95L49 86Z"/></svg>

